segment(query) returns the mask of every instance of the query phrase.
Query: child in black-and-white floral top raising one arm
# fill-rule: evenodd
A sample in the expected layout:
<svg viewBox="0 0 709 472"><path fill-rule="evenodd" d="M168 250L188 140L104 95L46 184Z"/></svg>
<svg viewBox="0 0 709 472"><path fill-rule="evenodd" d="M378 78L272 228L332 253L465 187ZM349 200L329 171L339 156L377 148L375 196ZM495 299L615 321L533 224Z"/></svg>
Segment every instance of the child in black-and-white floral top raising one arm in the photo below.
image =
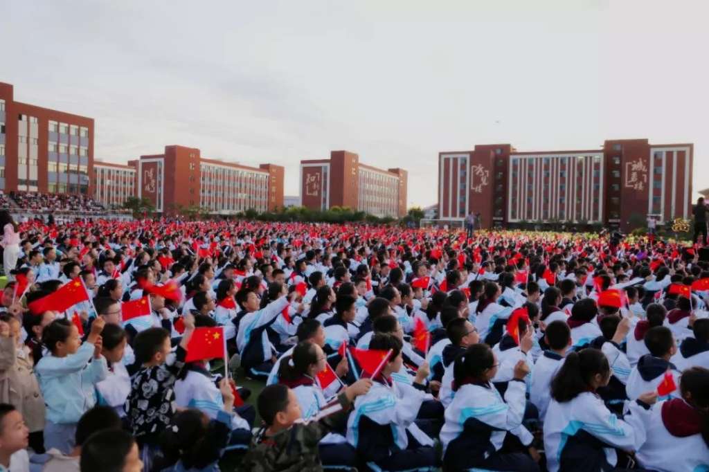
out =
<svg viewBox="0 0 709 472"><path fill-rule="evenodd" d="M146 467L152 466L160 433L167 428L177 405L174 403L174 383L184 366L186 348L194 332L194 317L184 317L184 334L174 354L170 336L162 328L148 328L135 337L135 361L140 370L133 376L125 412L130 431L138 441Z"/></svg>

